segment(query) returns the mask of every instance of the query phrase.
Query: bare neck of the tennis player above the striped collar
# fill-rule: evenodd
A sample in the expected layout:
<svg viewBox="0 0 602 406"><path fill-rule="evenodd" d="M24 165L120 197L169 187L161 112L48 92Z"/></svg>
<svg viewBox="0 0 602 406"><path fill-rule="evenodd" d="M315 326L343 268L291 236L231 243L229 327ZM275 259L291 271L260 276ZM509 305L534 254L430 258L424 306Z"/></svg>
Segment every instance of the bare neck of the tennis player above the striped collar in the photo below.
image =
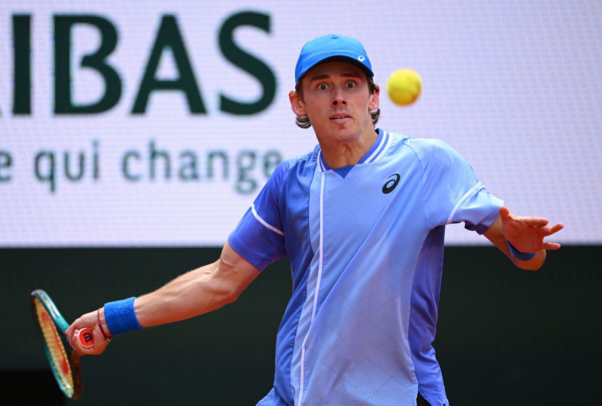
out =
<svg viewBox="0 0 602 406"><path fill-rule="evenodd" d="M370 123L371 124L371 123ZM349 137L345 140L332 140L330 137L320 137L316 134L324 161L330 168L341 168L355 165L362 156L374 145L378 134L374 126L367 126L359 137Z"/></svg>

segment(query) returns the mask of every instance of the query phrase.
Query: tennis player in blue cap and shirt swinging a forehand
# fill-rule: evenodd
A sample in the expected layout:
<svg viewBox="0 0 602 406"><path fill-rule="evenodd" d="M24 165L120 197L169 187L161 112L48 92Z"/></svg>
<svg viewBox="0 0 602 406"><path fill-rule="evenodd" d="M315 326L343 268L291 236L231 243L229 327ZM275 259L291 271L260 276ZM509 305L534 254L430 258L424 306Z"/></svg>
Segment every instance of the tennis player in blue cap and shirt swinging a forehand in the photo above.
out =
<svg viewBox="0 0 602 406"><path fill-rule="evenodd" d="M448 405L435 338L445 225L464 222L515 265L538 269L562 229L519 217L438 140L375 129L379 86L357 40L307 43L289 94L318 145L275 169L216 262L158 291L77 319L100 354L111 336L235 301L290 257L293 295L278 330L272 390L258 405Z"/></svg>

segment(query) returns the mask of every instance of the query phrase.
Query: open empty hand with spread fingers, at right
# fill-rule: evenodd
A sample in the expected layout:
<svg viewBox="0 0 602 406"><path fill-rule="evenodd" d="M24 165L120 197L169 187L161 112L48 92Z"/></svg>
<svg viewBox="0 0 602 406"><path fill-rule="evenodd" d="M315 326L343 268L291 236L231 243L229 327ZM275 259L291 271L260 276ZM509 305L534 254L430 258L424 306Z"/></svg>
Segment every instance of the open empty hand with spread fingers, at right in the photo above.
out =
<svg viewBox="0 0 602 406"><path fill-rule="evenodd" d="M541 250L557 250L560 244L545 242L544 238L563 229L562 223L548 226L550 220L542 217L520 217L500 207L501 233L522 253L535 253Z"/></svg>

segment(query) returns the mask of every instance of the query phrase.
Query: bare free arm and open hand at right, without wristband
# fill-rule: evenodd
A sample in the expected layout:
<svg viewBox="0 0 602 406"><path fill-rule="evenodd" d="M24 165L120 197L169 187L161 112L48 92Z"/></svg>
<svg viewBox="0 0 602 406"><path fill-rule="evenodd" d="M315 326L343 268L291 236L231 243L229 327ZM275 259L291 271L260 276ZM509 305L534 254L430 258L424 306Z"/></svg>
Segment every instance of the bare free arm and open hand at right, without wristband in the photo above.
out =
<svg viewBox="0 0 602 406"><path fill-rule="evenodd" d="M550 227L549 222L547 218L542 217L520 217L501 206L500 215L483 235L519 268L535 270L544 263L545 250L560 248L560 244L544 241L544 238L562 230L564 226L562 223L557 223ZM506 240L518 251L536 253L535 257L527 261L518 259L510 253Z"/></svg>

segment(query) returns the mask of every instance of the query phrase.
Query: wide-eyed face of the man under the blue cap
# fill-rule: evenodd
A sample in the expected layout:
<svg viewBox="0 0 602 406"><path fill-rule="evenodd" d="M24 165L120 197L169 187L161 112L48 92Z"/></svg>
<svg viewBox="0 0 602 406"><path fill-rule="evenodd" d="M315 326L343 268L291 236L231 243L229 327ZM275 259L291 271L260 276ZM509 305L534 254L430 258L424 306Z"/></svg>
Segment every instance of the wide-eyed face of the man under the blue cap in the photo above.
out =
<svg viewBox="0 0 602 406"><path fill-rule="evenodd" d="M364 71L352 63L327 62L301 78L303 100L291 92L297 115L307 114L318 140L346 143L373 131L370 110L379 106L378 93L368 91Z"/></svg>

